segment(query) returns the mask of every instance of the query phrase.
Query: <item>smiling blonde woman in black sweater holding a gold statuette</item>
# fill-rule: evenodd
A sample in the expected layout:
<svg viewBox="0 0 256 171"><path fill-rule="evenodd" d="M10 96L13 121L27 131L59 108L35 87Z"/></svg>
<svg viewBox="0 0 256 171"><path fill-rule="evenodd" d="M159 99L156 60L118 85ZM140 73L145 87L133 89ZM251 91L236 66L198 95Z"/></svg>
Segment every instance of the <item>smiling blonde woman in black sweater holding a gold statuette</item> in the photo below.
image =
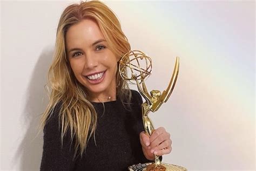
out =
<svg viewBox="0 0 256 171"><path fill-rule="evenodd" d="M150 137L143 132L142 98L119 75L118 61L129 50L117 17L102 2L64 10L41 120L41 170L127 170L171 152L164 128Z"/></svg>

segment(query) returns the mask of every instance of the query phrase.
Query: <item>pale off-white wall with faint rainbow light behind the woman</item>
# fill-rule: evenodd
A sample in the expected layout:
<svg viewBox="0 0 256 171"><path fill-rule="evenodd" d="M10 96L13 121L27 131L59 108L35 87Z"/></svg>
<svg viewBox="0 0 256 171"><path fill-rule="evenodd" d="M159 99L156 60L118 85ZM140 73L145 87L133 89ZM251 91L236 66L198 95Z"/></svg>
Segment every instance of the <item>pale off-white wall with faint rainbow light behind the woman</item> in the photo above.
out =
<svg viewBox="0 0 256 171"><path fill-rule="evenodd" d="M38 170L44 84L58 19L72 1L1 1L1 170ZM73 1L77 2L77 1ZM171 98L152 120L171 133L164 161L188 170L255 170L255 2L116 2L132 45L152 57L149 90Z"/></svg>

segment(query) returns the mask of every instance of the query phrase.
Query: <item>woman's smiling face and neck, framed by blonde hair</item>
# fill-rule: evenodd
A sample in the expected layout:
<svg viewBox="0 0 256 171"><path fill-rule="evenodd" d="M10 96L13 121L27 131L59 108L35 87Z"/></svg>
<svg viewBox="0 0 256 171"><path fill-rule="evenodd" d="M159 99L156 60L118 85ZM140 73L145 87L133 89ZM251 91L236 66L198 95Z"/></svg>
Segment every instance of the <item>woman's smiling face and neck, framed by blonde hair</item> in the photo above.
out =
<svg viewBox="0 0 256 171"><path fill-rule="evenodd" d="M89 91L91 100L116 99L117 58L99 26L90 19L72 25L65 44L72 71Z"/></svg>

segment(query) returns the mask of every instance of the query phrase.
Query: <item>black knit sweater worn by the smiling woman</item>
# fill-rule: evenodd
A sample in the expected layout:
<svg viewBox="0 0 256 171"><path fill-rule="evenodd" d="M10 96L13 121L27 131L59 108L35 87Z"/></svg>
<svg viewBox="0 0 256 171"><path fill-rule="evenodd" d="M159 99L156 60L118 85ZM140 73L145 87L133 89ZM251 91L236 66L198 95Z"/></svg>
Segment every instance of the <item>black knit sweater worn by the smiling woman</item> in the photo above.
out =
<svg viewBox="0 0 256 171"><path fill-rule="evenodd" d="M139 142L139 133L144 130L142 122L142 97L132 91L131 111L122 102L92 102L98 120L93 137L89 139L83 157L73 159L75 140L70 133L63 139L58 125L58 105L44 127L44 145L41 170L127 170L137 163L151 162L145 158Z"/></svg>

